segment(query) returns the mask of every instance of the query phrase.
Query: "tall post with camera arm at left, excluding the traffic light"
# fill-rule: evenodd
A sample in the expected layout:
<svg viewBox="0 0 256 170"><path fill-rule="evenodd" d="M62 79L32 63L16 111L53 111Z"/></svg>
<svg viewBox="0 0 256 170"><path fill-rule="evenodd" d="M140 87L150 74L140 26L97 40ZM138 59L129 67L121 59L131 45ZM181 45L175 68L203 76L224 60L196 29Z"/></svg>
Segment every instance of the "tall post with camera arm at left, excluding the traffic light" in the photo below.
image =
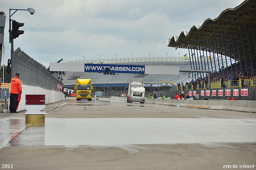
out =
<svg viewBox="0 0 256 170"><path fill-rule="evenodd" d="M11 10L15 10L12 14L11 14ZM14 78L14 58L13 58L13 53L14 53L14 45L13 45L13 38L12 38L12 30L11 30L11 22L15 21L11 19L11 16L13 14L15 14L15 12L17 12L18 10L21 11L28 11L31 15L33 15L35 13L35 10L33 8L28 8L27 10L23 10L23 9L9 9L9 43L11 43L11 78Z"/></svg>

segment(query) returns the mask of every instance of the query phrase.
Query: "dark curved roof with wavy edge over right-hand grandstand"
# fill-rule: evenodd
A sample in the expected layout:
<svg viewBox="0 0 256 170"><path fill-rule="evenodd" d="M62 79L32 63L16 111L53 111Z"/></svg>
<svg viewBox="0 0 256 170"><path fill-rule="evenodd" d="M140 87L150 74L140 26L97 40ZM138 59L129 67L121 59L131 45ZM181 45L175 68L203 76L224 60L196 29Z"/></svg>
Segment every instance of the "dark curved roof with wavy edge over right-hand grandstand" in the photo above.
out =
<svg viewBox="0 0 256 170"><path fill-rule="evenodd" d="M217 18L208 18L202 26L192 26L190 31L183 31L180 36L168 38L168 46L207 51L210 49L210 52L222 55L226 52L226 56L231 55L236 60L239 60L240 53L241 60L244 61L244 50L246 60L250 58L250 52L252 58L256 57L255 33L256 0L245 0L236 8L224 10Z"/></svg>

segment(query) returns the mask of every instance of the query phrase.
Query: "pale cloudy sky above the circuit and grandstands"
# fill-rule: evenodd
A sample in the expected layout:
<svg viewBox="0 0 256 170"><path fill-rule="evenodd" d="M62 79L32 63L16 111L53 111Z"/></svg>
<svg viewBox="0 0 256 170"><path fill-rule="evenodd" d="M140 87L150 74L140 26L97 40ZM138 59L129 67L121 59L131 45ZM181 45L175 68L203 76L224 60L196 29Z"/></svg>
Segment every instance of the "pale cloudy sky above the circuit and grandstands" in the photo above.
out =
<svg viewBox="0 0 256 170"><path fill-rule="evenodd" d="M188 50L167 47L167 38L216 18L243 0L0 0L6 14L4 63L10 58L9 9L24 22L14 40L34 60L50 62L110 58L179 56ZM12 10L12 12L14 12ZM180 54L178 54L180 52ZM115 55L116 54L116 55ZM83 58L84 56L84 58ZM100 57L99 57L100 56ZM2 60L3 62L3 60ZM2 64L2 63L1 63Z"/></svg>

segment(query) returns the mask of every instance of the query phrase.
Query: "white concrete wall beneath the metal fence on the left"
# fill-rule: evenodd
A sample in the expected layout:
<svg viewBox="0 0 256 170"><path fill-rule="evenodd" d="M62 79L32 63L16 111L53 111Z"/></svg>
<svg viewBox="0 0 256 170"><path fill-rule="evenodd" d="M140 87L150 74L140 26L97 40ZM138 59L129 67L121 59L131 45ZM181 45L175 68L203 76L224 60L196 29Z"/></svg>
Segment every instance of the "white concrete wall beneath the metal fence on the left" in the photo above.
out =
<svg viewBox="0 0 256 170"><path fill-rule="evenodd" d="M22 95L17 112L25 110L26 94L45 94L45 104L50 104L65 99L65 96L62 92L46 90L36 86L22 85Z"/></svg>

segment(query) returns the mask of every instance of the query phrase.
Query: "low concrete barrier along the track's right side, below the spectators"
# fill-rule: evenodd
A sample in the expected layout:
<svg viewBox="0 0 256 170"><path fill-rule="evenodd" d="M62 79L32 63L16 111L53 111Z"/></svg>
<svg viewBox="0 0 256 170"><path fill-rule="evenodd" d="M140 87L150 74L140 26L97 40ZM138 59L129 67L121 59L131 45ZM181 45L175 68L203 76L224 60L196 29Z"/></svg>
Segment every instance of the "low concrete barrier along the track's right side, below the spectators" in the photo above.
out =
<svg viewBox="0 0 256 170"><path fill-rule="evenodd" d="M164 104L168 106L256 113L256 101L251 100L172 100L146 98L145 102L152 104Z"/></svg>

